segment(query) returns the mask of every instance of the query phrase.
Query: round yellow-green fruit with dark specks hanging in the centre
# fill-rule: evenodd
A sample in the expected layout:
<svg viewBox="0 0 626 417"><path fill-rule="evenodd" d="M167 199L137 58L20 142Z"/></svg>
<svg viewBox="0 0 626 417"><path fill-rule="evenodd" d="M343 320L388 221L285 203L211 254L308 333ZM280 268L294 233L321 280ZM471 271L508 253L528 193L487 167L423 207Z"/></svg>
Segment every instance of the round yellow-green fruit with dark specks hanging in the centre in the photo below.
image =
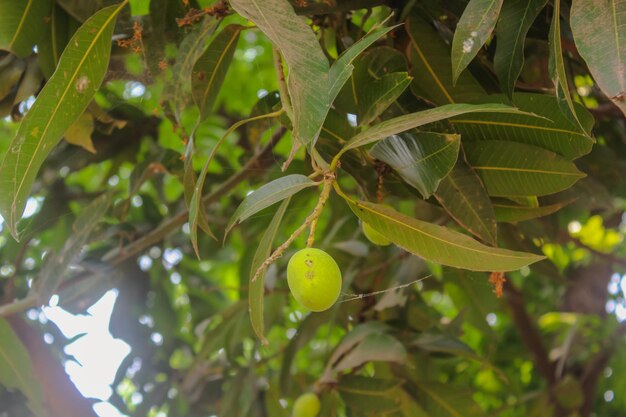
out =
<svg viewBox="0 0 626 417"><path fill-rule="evenodd" d="M323 250L306 248L289 260L287 282L300 304L312 311L324 311L339 298L341 270Z"/></svg>

